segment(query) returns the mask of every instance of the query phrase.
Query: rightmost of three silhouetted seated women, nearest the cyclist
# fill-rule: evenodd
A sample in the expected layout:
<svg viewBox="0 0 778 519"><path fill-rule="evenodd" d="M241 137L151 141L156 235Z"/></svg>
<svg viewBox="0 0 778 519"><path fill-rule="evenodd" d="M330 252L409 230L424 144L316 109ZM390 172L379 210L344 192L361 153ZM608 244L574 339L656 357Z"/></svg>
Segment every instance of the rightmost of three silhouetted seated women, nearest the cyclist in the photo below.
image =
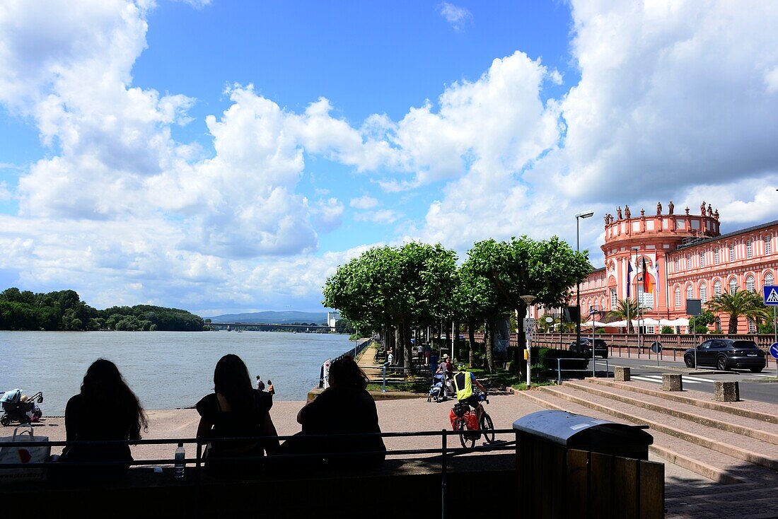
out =
<svg viewBox="0 0 778 519"><path fill-rule="evenodd" d="M384 461L386 447L381 437L342 437L324 440L310 439L314 434L380 433L376 402L366 391L367 376L354 359L343 356L330 365L329 386L312 402L300 409L297 422L303 426L292 451L339 453L373 452L356 456L338 456L325 459L328 465L338 467L365 467ZM326 457L324 457L326 458Z"/></svg>

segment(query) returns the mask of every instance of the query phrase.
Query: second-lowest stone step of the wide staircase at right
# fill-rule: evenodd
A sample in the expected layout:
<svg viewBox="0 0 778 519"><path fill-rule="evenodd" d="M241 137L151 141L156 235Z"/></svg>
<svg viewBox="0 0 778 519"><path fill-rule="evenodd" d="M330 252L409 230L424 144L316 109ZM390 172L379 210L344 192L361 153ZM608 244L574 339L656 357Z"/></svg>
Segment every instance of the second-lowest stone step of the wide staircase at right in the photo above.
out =
<svg viewBox="0 0 778 519"><path fill-rule="evenodd" d="M701 447L778 471L778 446L762 440L745 438L736 433L692 423L675 416L665 415L662 412L640 409L610 398L583 393L575 387L547 386L542 389L552 392L559 398L597 409L619 419L633 423L645 423L652 430L670 434L692 444L698 444Z"/></svg>

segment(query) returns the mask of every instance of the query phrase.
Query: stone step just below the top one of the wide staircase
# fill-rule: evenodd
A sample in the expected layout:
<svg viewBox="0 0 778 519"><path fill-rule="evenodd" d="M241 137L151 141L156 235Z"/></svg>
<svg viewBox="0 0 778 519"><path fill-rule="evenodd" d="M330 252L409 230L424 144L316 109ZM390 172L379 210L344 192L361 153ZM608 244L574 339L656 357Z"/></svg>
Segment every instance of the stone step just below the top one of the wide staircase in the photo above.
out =
<svg viewBox="0 0 778 519"><path fill-rule="evenodd" d="M652 395L641 395L640 398L638 398L637 395L629 396L634 395L634 393L625 395L624 393L627 391L616 392L619 391L618 388L602 387L598 384L592 384L591 382L566 380L564 385L566 387L575 387L580 391L586 391L592 395L611 398L612 400L624 404L635 405L636 407L649 409L650 411L663 412L670 416L675 416L676 418L689 420L693 423L699 423L704 426L714 427L719 430L752 437L756 440L762 440L769 444L778 445L778 426L772 423L766 423L762 420L741 416L738 417L738 423L733 423L733 417L728 412L715 411L712 409L705 409L703 411L696 407L696 405L682 402L675 402L673 405L668 406L666 398ZM701 414L701 412L704 412L704 415Z"/></svg>

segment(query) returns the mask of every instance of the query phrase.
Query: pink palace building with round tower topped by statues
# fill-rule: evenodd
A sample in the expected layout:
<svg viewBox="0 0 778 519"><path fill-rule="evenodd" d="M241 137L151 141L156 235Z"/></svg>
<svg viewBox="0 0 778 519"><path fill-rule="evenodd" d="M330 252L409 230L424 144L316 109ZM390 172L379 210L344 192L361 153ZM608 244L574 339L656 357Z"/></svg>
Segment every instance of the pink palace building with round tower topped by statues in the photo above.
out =
<svg viewBox="0 0 778 519"><path fill-rule="evenodd" d="M630 296L639 298L644 317L686 317L686 300L705 303L734 289L761 291L773 285L778 270L778 220L721 234L719 212L703 202L696 214L687 207L675 212L673 202L654 214L634 215L625 206L605 215L605 267L597 268L580 286L581 319L589 309L611 310L627 297L627 272L632 266ZM645 258L646 271L643 272ZM653 293L643 293L642 275L650 276ZM571 304L576 303L573 291ZM703 304L704 308L704 304ZM598 317L598 321L601 318ZM727 331L729 317L717 316L712 328ZM648 333L658 332L647 327ZM754 322L741 317L738 333L754 333Z"/></svg>

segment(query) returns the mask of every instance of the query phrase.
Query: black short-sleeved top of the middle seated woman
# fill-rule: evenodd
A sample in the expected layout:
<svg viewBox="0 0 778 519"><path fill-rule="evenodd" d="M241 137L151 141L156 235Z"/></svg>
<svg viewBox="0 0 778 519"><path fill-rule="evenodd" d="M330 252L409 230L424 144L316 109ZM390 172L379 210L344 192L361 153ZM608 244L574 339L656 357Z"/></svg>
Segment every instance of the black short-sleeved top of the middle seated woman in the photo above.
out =
<svg viewBox="0 0 778 519"><path fill-rule="evenodd" d="M273 405L273 397L265 391L252 390L254 393L254 409L248 411L223 411L219 406L219 398L216 393L205 395L195 405L195 409L203 419L213 424L212 438L239 438L262 436L262 425L265 413L270 411ZM212 444L209 455L222 451L251 451L256 442L230 442L229 445ZM261 449L259 449L261 451Z"/></svg>

